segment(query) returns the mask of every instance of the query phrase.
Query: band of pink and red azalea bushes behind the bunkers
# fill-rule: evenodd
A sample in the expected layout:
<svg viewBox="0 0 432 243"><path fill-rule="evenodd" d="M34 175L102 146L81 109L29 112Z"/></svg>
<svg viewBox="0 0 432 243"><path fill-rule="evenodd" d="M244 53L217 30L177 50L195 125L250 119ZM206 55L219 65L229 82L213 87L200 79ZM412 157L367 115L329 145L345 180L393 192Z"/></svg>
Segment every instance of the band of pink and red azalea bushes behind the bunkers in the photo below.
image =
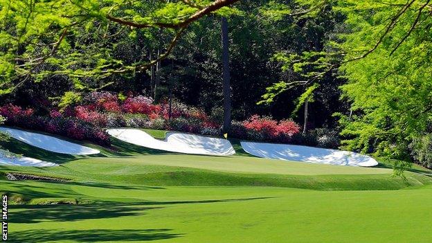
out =
<svg viewBox="0 0 432 243"><path fill-rule="evenodd" d="M46 112L46 111L45 111ZM132 96L120 100L116 93L96 91L87 94L78 105L64 111L51 109L47 116L35 116L33 109L22 109L8 104L0 107L0 115L7 125L37 129L109 145L105 127L137 127L191 132L211 136L222 135L221 125L203 110L178 101L172 102L171 116L168 102L154 104L152 98ZM271 117L251 116L244 121L233 121L230 137L252 141L292 142L300 127L292 120L273 120Z"/></svg>

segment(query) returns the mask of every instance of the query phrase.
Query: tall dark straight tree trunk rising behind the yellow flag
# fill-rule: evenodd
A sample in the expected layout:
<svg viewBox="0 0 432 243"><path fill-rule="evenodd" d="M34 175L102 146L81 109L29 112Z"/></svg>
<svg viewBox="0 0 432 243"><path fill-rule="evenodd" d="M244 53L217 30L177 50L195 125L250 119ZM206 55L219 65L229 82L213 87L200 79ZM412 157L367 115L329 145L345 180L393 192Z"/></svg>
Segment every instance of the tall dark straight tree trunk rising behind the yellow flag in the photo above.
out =
<svg viewBox="0 0 432 243"><path fill-rule="evenodd" d="M224 80L224 133L231 129L231 85L228 48L228 22L222 17L222 79Z"/></svg>

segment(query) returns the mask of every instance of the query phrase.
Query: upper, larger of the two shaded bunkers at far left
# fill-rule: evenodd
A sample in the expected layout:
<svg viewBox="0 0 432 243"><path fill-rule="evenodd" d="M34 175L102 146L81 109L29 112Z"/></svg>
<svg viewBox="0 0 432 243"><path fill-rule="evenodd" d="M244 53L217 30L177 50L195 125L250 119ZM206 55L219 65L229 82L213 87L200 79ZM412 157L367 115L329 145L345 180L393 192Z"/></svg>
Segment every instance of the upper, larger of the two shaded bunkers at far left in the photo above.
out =
<svg viewBox="0 0 432 243"><path fill-rule="evenodd" d="M94 150L91 147L78 145L64 141L53 136L47 136L44 134L37 134L35 132L26 132L19 129L12 129L8 127L0 127L0 132L8 133L12 138L15 138L21 142L28 143L35 147L42 148L51 152L60 154L99 154L99 150Z"/></svg>

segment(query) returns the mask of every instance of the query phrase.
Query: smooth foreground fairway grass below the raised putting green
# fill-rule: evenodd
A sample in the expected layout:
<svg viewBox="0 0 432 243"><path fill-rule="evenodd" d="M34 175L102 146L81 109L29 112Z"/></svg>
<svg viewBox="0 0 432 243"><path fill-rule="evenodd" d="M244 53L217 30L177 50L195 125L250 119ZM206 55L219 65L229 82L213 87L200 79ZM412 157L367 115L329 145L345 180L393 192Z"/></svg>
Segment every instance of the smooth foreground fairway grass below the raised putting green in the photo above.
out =
<svg viewBox="0 0 432 243"><path fill-rule="evenodd" d="M116 193L85 193L128 201ZM431 187L334 192L168 187L129 197L127 203L118 204L15 206L10 238L17 242L432 241L427 227L432 218Z"/></svg>

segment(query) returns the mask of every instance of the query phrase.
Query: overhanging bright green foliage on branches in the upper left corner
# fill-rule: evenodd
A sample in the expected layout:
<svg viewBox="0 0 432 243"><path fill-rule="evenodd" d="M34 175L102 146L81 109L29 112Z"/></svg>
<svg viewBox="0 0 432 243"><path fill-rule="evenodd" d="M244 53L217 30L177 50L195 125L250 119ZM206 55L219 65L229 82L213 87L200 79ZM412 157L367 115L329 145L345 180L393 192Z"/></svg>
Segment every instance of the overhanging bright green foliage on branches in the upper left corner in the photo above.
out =
<svg viewBox="0 0 432 243"><path fill-rule="evenodd" d="M205 15L190 18L213 2L0 0L0 94L53 77L70 79L75 90L130 78L168 56L183 28ZM227 5L206 15L236 13ZM137 39L139 48L129 48ZM166 53L149 60L153 48Z"/></svg>

